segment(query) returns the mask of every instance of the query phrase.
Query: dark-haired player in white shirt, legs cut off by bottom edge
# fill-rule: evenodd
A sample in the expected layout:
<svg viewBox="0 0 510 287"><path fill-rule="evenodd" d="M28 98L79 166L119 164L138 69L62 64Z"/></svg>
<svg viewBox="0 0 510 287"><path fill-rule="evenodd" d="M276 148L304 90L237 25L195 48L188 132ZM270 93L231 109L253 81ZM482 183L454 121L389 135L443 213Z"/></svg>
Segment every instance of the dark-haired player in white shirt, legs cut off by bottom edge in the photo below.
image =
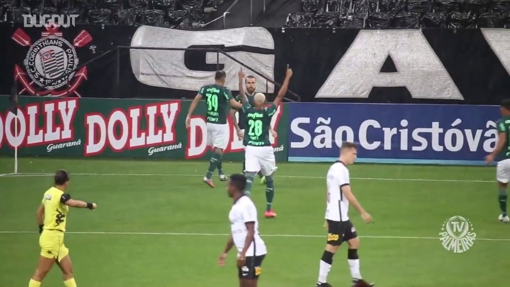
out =
<svg viewBox="0 0 510 287"><path fill-rule="evenodd" d="M230 176L227 193L234 199L234 205L228 214L232 235L220 255L218 264L225 265L226 254L236 245L240 286L257 287L257 280L262 272L262 261L267 250L266 244L259 234L257 208L249 197L243 196L245 186L246 177L243 174Z"/></svg>

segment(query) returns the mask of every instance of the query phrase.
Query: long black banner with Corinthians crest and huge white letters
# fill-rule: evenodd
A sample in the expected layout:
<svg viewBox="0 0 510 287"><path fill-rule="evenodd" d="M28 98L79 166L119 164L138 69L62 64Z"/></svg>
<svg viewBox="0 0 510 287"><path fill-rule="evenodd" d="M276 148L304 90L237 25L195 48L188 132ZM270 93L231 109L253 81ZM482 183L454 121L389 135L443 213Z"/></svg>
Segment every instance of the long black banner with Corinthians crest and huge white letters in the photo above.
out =
<svg viewBox="0 0 510 287"><path fill-rule="evenodd" d="M191 98L217 68L237 90L239 64L205 51L122 50L68 77L66 71L114 48L220 48L308 102L498 105L510 90L508 29L264 29L181 31L77 25L48 29L0 23L0 93L16 79L22 94ZM219 63L219 65L217 65ZM252 71L246 71L248 74ZM50 87L40 88L57 82ZM277 91L257 76L258 91Z"/></svg>

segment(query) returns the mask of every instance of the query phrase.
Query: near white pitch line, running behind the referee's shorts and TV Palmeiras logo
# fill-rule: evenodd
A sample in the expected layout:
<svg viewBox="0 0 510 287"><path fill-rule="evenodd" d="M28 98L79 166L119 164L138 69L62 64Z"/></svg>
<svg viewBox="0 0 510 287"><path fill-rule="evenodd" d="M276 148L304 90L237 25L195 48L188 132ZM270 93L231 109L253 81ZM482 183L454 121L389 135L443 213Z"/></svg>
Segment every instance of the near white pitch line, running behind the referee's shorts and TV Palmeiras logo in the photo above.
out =
<svg viewBox="0 0 510 287"><path fill-rule="evenodd" d="M0 231L0 234L12 233L39 233L36 231ZM184 232L109 232L109 231L68 231L66 234L113 234L113 235L168 235L168 236L230 236L228 233L184 233ZM301 237L301 238L322 238L324 235L305 235L305 234L262 234L262 237ZM413 236L360 236L360 238L375 239L433 239L439 240L439 237L413 237ZM482 241L510 241L510 238L476 238Z"/></svg>

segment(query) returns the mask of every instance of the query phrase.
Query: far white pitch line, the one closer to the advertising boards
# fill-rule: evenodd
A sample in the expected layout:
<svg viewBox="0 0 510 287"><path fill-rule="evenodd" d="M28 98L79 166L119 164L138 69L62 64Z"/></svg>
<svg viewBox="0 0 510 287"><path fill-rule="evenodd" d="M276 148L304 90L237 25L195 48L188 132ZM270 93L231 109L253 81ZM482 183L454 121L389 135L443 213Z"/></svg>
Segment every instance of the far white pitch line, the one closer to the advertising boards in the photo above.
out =
<svg viewBox="0 0 510 287"><path fill-rule="evenodd" d="M30 177L30 176L50 176L53 173L9 173L4 177ZM93 176L203 176L202 174L176 174L176 173L71 173L72 175L93 175ZM320 178L323 176L298 176L298 175L275 175L276 177L286 178ZM433 178L378 178L378 177L351 177L360 180L394 180L394 181L435 181L435 182L494 182L494 180L478 179L433 179Z"/></svg>

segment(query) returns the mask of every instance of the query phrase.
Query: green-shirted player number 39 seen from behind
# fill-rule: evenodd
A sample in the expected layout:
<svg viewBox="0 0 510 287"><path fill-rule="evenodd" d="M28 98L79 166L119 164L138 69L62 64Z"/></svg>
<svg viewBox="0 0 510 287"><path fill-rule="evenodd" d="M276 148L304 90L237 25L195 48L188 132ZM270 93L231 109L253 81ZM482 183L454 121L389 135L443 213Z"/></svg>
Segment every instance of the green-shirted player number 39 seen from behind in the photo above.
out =
<svg viewBox="0 0 510 287"><path fill-rule="evenodd" d="M206 85L200 88L198 94L193 99L193 102L191 102L188 116L186 117L186 127L189 128L191 126L191 115L193 114L193 111L198 105L198 102L205 97L207 103L207 145L211 146L214 152L209 162L209 169L206 176L203 177L203 182L212 188L214 188L212 179L213 172L216 168L218 168L220 180L227 180L221 166L221 156L223 154L223 150L228 144L227 139L229 129L226 120L228 102L230 102L230 105L234 108L242 107L241 103L237 102L232 97L231 91L224 87L225 78L226 74L224 71L217 71L214 76L215 83L213 85Z"/></svg>

